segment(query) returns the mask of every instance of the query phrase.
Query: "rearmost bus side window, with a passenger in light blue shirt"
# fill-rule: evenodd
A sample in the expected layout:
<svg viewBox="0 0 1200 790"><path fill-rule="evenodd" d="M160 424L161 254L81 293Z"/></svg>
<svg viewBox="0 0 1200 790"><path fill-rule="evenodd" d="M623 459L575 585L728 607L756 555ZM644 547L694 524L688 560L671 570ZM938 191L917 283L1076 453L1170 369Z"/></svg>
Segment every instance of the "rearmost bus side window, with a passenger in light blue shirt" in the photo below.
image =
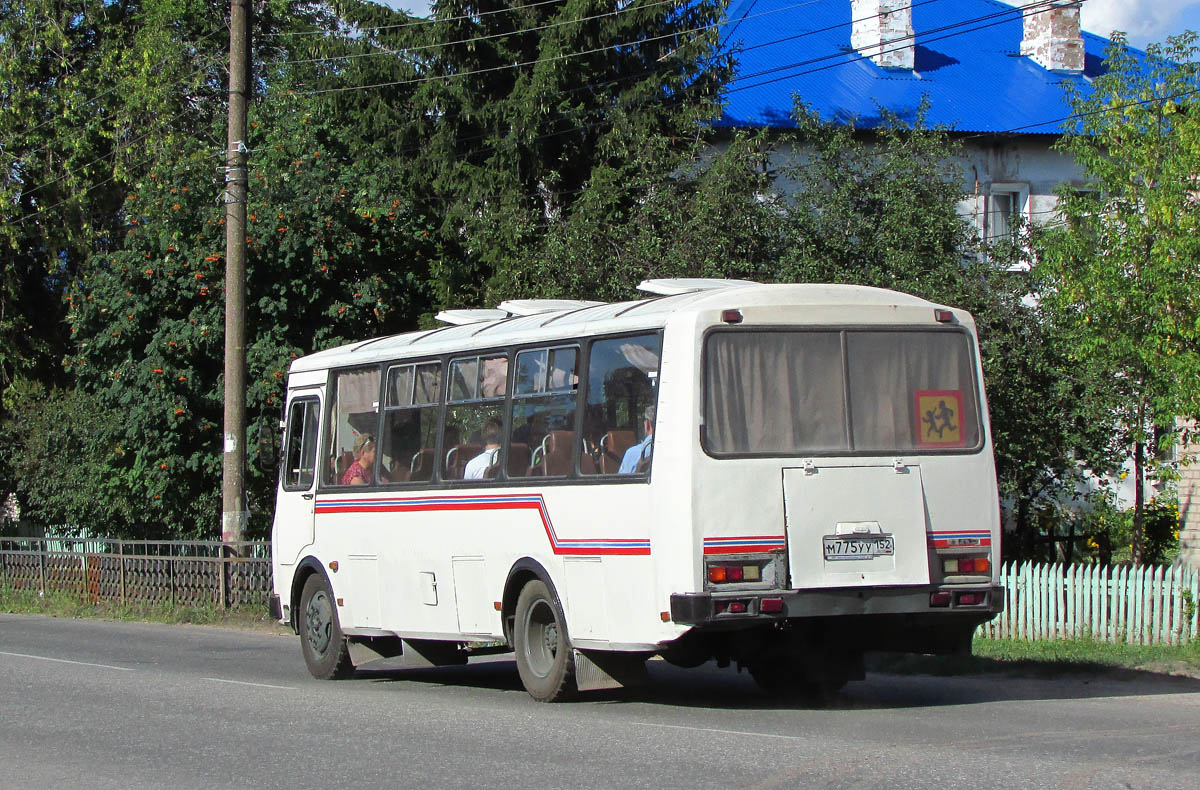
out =
<svg viewBox="0 0 1200 790"><path fill-rule="evenodd" d="M653 439L646 431L647 408L658 400L659 335L616 337L592 343L588 394L583 408L583 474L617 474L637 448L634 472L649 469ZM653 413L653 412L650 412ZM653 420L650 431L653 431Z"/></svg>

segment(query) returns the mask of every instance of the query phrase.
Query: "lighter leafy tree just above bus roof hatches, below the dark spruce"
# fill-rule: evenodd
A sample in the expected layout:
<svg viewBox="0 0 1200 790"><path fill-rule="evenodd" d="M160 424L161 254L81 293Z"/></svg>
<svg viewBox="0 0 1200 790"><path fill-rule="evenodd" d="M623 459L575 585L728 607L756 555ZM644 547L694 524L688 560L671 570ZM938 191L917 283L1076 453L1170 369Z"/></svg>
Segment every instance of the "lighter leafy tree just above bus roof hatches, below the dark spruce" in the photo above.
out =
<svg viewBox="0 0 1200 790"><path fill-rule="evenodd" d="M648 277L778 280L786 211L772 194L770 150L763 133L734 133L715 155L702 143L686 158L646 144L614 157L526 253L509 288L622 300Z"/></svg>

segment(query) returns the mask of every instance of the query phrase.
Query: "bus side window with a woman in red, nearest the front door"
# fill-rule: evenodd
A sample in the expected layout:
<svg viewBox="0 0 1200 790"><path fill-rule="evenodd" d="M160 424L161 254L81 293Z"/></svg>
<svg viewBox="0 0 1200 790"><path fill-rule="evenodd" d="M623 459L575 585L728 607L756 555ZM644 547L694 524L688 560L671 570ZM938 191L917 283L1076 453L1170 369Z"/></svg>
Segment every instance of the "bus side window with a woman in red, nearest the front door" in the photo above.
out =
<svg viewBox="0 0 1200 790"><path fill-rule="evenodd" d="M359 367L334 373L330 396L329 443L322 469L322 483L325 485L347 484L347 472L360 460L366 460L370 468L364 468L367 484L379 480L377 465L370 462L370 455L355 457L355 445L360 450L378 455L374 432L379 425L379 369ZM359 437L366 437L359 441ZM378 460L378 459L376 459Z"/></svg>

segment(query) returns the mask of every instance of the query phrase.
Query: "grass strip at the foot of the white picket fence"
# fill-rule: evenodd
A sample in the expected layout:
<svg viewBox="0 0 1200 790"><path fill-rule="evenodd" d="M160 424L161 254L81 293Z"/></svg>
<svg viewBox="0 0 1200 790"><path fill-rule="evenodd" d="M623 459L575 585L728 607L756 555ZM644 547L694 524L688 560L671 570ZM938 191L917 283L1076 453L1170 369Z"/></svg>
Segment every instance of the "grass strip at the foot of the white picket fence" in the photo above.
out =
<svg viewBox="0 0 1200 790"><path fill-rule="evenodd" d="M984 675L1025 677L1098 675L1115 670L1200 678L1200 642L1126 645L1092 639L1021 641L976 639L972 656L878 653L868 669L900 675Z"/></svg>

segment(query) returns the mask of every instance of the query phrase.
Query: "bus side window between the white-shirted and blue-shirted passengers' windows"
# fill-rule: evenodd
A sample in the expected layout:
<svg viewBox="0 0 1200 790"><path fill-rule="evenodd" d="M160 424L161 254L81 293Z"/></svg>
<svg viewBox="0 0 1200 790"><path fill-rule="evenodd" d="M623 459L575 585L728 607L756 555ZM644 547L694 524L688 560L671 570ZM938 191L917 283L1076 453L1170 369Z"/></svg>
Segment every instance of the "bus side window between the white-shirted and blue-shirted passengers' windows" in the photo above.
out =
<svg viewBox="0 0 1200 790"><path fill-rule="evenodd" d="M578 348L536 348L517 354L508 477L564 477L575 445Z"/></svg>

